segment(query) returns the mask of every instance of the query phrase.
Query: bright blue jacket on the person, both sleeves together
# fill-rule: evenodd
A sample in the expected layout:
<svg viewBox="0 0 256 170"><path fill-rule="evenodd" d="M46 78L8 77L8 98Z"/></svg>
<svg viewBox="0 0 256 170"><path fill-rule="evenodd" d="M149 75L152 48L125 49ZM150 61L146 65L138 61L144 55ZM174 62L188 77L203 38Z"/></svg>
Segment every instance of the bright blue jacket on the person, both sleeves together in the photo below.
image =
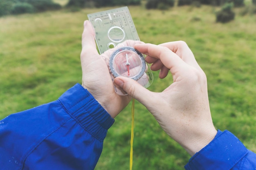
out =
<svg viewBox="0 0 256 170"><path fill-rule="evenodd" d="M51 103L0 121L1 170L93 170L114 119L81 85ZM255 170L256 155L230 132L195 154L186 170Z"/></svg>

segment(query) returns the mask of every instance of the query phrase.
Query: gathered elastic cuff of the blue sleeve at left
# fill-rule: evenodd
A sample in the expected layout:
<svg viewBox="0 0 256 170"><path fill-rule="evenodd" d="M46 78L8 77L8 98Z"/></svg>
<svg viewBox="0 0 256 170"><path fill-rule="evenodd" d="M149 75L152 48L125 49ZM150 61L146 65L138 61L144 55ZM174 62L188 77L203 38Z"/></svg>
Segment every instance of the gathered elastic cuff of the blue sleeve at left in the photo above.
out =
<svg viewBox="0 0 256 170"><path fill-rule="evenodd" d="M103 141L114 119L80 84L67 90L59 101L84 130Z"/></svg>

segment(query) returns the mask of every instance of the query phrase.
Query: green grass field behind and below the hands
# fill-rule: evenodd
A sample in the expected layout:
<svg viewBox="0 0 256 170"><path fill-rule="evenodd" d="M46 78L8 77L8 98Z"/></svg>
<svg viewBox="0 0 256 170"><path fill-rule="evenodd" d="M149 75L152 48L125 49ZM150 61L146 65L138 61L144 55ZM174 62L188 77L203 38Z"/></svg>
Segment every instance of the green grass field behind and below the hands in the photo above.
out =
<svg viewBox="0 0 256 170"><path fill-rule="evenodd" d="M61 2L61 0L59 0ZM0 18L0 119L51 102L81 83L81 34L88 13L111 8L68 9ZM215 7L175 7L168 11L129 7L144 42L184 40L208 79L209 100L217 129L233 132L256 152L256 16L215 22ZM172 79L154 73L151 91ZM116 118L104 142L97 170L127 170L130 108ZM153 116L136 102L133 170L182 170L189 155L170 139Z"/></svg>

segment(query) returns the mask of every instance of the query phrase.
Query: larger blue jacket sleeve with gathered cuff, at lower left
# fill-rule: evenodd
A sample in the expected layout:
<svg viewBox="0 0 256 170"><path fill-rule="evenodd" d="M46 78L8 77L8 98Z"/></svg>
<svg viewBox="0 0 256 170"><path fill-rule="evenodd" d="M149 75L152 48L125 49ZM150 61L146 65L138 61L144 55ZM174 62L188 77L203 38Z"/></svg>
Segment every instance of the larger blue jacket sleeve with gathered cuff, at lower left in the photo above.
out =
<svg viewBox="0 0 256 170"><path fill-rule="evenodd" d="M0 121L1 170L93 170L114 119L81 85Z"/></svg>

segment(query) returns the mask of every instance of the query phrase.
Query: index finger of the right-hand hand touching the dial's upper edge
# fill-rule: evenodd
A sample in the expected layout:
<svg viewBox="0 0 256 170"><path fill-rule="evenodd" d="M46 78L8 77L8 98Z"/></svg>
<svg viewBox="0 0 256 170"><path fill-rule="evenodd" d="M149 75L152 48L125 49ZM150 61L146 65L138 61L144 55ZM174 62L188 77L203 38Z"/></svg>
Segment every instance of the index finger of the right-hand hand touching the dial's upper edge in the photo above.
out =
<svg viewBox="0 0 256 170"><path fill-rule="evenodd" d="M157 46L154 44L136 44L135 48L141 53L160 59L164 66L170 69L172 74L175 74L178 70L182 71L182 68L187 66L179 56L164 46Z"/></svg>

